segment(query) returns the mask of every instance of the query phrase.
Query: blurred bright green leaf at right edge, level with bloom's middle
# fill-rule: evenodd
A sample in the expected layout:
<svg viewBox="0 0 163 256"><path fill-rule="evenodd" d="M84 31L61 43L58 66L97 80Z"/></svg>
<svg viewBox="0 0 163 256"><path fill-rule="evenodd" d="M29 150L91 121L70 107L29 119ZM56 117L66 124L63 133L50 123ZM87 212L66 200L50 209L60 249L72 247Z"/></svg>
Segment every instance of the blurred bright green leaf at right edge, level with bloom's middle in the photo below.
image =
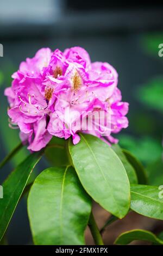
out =
<svg viewBox="0 0 163 256"><path fill-rule="evenodd" d="M137 99L151 109L163 113L163 78L155 78L141 86L137 93Z"/></svg>

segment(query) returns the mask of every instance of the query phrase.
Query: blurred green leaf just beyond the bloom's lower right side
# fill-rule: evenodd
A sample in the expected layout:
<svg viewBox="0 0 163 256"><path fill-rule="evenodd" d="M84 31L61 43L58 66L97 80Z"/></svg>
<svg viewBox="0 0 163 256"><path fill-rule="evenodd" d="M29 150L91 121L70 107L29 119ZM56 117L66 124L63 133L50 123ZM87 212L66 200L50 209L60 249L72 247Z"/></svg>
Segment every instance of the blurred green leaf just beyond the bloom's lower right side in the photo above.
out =
<svg viewBox="0 0 163 256"><path fill-rule="evenodd" d="M148 136L135 138L130 135L120 135L119 138L121 148L129 150L145 165L156 161L162 152L160 141Z"/></svg>

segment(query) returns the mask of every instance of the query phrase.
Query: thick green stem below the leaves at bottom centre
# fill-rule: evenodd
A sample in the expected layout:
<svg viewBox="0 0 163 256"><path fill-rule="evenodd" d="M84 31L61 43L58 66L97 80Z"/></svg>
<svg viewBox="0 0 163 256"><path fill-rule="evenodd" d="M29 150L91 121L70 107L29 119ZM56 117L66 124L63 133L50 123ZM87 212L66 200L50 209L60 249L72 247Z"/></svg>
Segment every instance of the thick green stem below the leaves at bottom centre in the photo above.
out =
<svg viewBox="0 0 163 256"><path fill-rule="evenodd" d="M104 242L102 240L102 236L101 234L99 233L99 229L97 227L97 224L96 224L96 221L95 221L95 218L91 212L90 214L90 219L89 219L89 228L91 230L91 234L93 236L93 239L96 243L96 245L104 245Z"/></svg>

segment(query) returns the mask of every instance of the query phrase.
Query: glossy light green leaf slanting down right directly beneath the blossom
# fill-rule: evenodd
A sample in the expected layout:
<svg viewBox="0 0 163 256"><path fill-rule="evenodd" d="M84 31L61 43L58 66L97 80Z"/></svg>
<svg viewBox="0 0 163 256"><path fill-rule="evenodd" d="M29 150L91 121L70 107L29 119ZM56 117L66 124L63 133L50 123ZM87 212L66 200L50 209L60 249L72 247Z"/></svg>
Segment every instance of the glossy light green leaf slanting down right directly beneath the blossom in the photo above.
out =
<svg viewBox="0 0 163 256"><path fill-rule="evenodd" d="M130 204L130 185L122 162L108 144L92 135L80 134L69 150L83 187L105 210L123 218Z"/></svg>

